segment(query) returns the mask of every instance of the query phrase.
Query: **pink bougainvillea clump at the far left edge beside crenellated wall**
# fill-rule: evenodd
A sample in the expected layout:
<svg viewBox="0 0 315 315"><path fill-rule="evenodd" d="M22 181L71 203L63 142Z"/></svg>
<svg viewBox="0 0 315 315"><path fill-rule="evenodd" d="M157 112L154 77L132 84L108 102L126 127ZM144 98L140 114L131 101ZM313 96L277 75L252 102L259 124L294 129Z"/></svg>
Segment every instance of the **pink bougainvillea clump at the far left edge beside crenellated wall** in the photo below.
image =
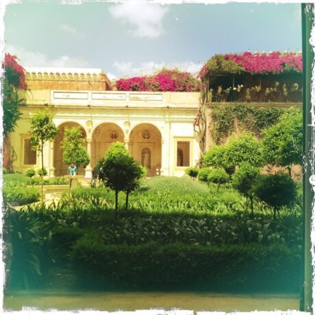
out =
<svg viewBox="0 0 315 315"><path fill-rule="evenodd" d="M14 88L27 88L25 83L25 72L23 66L16 62L16 55L5 53L2 66L5 68L5 79Z"/></svg>

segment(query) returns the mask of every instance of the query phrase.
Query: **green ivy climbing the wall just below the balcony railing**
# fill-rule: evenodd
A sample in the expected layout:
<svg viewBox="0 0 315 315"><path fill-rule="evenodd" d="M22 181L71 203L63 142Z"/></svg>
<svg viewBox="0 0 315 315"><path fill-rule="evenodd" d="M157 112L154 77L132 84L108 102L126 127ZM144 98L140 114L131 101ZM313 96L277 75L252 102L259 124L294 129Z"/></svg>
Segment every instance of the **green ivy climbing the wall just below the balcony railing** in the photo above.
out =
<svg viewBox="0 0 315 315"><path fill-rule="evenodd" d="M258 138L262 130L277 123L284 110L275 107L253 108L244 104L212 108L212 137L216 144L225 142L238 129L253 132Z"/></svg>

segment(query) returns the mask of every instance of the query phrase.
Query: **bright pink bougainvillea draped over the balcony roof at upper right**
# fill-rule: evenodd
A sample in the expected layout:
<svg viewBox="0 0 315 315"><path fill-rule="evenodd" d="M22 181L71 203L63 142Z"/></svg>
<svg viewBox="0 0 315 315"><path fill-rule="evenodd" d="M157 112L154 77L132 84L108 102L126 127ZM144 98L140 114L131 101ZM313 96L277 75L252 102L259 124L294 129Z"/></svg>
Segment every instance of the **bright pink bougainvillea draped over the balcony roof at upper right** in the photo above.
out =
<svg viewBox="0 0 315 315"><path fill-rule="evenodd" d="M245 73L251 73L252 75L275 75L284 71L296 71L301 73L303 68L301 55L296 56L291 53L281 55L279 51L269 53L268 55L266 53L253 55L251 52L247 51L242 54L227 54L224 55L224 58L239 64L244 68ZM205 64L199 72L199 77L201 79L209 73L207 64Z"/></svg>

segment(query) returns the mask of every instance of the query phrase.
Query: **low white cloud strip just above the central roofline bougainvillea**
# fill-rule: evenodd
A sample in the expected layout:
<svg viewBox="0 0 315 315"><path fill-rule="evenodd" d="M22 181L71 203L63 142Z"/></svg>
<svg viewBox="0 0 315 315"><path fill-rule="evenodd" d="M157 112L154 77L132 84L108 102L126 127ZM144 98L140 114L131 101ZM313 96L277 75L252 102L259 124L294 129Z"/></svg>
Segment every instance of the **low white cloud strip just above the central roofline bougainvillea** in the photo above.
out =
<svg viewBox="0 0 315 315"><path fill-rule="evenodd" d="M187 71L193 75L199 73L203 64L195 62L142 62L139 66L133 66L132 62L117 62L113 64L114 68L121 73L121 75L137 76L137 75L151 75L156 71L160 71L162 68L178 68L180 71Z"/></svg>

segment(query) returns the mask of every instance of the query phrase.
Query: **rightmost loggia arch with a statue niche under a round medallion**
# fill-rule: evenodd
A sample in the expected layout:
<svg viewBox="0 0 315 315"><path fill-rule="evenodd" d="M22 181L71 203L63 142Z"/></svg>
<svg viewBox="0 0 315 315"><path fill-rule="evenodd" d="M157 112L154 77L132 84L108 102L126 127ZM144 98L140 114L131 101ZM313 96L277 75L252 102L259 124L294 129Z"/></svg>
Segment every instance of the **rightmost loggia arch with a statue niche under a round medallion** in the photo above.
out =
<svg viewBox="0 0 315 315"><path fill-rule="evenodd" d="M142 166L147 168L147 176L160 175L162 162L162 135L150 123L141 123L131 130L129 152Z"/></svg>

